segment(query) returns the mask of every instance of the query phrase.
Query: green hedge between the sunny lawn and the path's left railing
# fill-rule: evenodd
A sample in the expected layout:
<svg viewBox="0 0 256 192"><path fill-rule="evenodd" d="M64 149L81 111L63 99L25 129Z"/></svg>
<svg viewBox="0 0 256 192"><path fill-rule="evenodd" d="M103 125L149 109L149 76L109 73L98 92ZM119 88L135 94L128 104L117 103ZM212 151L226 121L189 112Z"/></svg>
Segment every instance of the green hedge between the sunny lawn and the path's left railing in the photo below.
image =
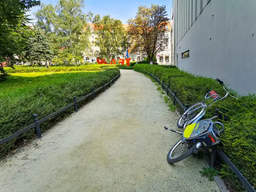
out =
<svg viewBox="0 0 256 192"><path fill-rule="evenodd" d="M52 67L53 68L53 67ZM67 81L42 87L38 84L34 90L24 93L20 97L0 98L0 140L25 128L33 123L33 114L38 114L38 119L44 118L55 111L60 110L77 99L91 92L92 87L97 89L118 75L118 68L110 68L99 72L81 72ZM69 73L67 73L69 74ZM62 74L63 75L63 74ZM58 78L58 74L53 74ZM5 83L8 83L5 82ZM29 84L28 84L29 85ZM79 103L81 105L81 103ZM45 131L63 119L64 116L74 111L69 108L40 125L41 131ZM35 137L33 130L25 132L22 136L0 145L0 159L4 157L19 140Z"/></svg>

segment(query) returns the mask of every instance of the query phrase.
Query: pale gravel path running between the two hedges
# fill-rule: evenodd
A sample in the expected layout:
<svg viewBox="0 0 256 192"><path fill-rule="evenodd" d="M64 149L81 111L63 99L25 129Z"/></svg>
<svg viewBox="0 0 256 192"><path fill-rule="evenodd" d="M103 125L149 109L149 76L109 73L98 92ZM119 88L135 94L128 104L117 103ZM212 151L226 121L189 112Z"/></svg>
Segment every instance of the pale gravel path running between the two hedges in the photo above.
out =
<svg viewBox="0 0 256 192"><path fill-rule="evenodd" d="M116 83L0 166L1 192L212 192L202 160L170 165L177 115L143 74Z"/></svg>

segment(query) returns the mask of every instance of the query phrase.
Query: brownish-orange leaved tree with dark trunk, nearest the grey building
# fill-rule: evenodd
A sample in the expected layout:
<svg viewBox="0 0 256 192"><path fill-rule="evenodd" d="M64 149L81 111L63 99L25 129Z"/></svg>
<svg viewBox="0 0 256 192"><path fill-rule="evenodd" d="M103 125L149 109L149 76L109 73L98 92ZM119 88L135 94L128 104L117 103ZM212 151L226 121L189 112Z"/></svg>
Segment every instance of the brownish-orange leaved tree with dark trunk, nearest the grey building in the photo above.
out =
<svg viewBox="0 0 256 192"><path fill-rule="evenodd" d="M169 21L167 15L166 6L139 6L136 17L128 20L131 52L146 52L149 61L152 61L154 55L163 50L163 45L168 44L165 35L165 26Z"/></svg>

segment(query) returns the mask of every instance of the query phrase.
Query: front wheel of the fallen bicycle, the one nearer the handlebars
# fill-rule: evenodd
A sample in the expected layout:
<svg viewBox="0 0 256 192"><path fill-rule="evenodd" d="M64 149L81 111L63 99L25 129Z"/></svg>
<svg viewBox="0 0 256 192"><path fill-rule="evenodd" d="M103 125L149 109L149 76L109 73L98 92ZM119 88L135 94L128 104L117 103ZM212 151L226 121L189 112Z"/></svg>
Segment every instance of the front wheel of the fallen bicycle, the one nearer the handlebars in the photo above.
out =
<svg viewBox="0 0 256 192"><path fill-rule="evenodd" d="M203 113L204 108L200 108L202 105L204 105L204 102L197 102L184 111L177 122L177 127L183 128L185 123L193 120L196 116L198 116L198 114L200 115Z"/></svg>

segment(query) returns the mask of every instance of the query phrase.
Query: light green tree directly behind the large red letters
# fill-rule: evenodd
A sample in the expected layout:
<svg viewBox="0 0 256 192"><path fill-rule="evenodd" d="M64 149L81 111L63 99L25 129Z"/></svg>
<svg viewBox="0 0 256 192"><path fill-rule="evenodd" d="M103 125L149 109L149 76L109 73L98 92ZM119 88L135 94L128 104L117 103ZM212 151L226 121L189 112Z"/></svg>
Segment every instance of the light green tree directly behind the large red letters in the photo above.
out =
<svg viewBox="0 0 256 192"><path fill-rule="evenodd" d="M110 15L105 15L102 18L100 15L95 15L93 23L96 29L95 45L100 49L96 56L110 62L112 58L123 55L127 47L127 40L122 22L111 18Z"/></svg>

